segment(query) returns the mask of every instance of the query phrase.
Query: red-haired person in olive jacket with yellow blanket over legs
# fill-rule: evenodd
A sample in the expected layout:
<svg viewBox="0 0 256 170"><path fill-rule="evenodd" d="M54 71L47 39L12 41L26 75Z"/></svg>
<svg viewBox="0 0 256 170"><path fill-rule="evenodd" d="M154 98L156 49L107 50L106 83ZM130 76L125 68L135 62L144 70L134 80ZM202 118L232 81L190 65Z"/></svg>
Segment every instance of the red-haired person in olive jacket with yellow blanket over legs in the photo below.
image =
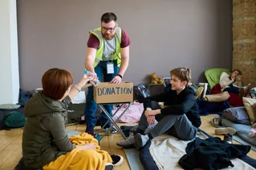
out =
<svg viewBox="0 0 256 170"><path fill-rule="evenodd" d="M100 150L93 136L83 132L83 138L89 142L75 145L65 131L67 105L87 81L95 78L83 75L79 83L71 88L73 78L67 70L54 68L43 74L43 91L36 93L24 109L26 123L22 135L22 159L27 169L59 169L58 164L62 168L67 166L65 169L72 166L71 169L112 170L113 164L121 164L123 158ZM73 160L67 163L65 156L73 153Z"/></svg>

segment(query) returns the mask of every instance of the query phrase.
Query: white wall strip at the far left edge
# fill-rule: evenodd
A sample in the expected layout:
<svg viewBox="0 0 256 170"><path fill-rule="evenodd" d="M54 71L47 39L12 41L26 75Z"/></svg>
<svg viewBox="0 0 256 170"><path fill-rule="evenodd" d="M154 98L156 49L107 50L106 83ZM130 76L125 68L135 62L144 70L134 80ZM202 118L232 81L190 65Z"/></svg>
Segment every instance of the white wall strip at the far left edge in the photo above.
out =
<svg viewBox="0 0 256 170"><path fill-rule="evenodd" d="M19 93L16 0L0 1L0 105L16 104Z"/></svg>

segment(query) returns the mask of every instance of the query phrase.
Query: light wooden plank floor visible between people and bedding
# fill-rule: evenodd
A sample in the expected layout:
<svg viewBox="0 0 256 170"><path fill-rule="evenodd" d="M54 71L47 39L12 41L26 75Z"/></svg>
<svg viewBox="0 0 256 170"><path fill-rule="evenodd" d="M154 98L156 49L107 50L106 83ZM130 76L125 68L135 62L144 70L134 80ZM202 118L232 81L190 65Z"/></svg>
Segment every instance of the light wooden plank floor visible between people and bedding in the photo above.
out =
<svg viewBox="0 0 256 170"><path fill-rule="evenodd" d="M209 123L212 117L216 115L208 115L201 117L202 125L201 129L205 132L208 132L212 136L214 134L213 126ZM135 125L135 124L120 124L120 125ZM85 125L74 125L68 126L68 128L83 132ZM223 136L219 136L223 138ZM124 163L116 167L115 170L129 170L128 161L126 159L123 148L120 148L116 145L117 141L123 140L123 137L120 134L113 134L112 136L106 136L101 140L100 146L102 149L108 151L109 153L119 154L124 156ZM237 143L237 142L234 142ZM10 170L14 169L15 165L18 163L18 160L22 157L22 129L12 129L10 131L2 130L0 131L0 169L1 170ZM248 156L256 159L256 152L251 150L248 153Z"/></svg>

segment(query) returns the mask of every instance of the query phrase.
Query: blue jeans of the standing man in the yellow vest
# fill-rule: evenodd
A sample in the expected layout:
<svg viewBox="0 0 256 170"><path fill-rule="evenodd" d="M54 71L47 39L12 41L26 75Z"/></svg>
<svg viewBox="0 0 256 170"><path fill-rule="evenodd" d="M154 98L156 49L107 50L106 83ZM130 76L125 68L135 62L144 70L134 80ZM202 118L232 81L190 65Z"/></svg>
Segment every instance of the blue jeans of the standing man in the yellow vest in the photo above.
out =
<svg viewBox="0 0 256 170"><path fill-rule="evenodd" d="M108 61L100 61L100 63L95 67L95 73L97 73L97 76L99 77L100 82L102 82L103 80L104 82L112 81L113 77L115 77L119 71L119 67L116 65L116 61L113 61L114 73L107 73L107 63ZM84 118L87 124L86 132L88 131L93 132L93 128L95 127L95 124L97 121L95 118L96 108L97 108L97 104L94 101L94 97L93 97L93 86L91 86L88 88L85 110L84 110ZM110 115L112 115L113 105L104 105L104 108L108 111ZM108 121L108 117L105 115L105 113L101 113L101 117L100 117L101 126L103 126L107 121ZM110 122L105 128L109 128L109 127L110 127Z"/></svg>

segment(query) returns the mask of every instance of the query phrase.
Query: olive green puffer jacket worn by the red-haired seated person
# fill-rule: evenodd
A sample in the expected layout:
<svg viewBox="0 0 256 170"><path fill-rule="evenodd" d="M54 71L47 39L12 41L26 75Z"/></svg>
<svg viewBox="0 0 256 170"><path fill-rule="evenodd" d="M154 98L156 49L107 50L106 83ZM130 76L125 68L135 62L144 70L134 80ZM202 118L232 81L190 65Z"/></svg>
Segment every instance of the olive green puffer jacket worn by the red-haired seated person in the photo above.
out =
<svg viewBox="0 0 256 170"><path fill-rule="evenodd" d="M39 92L26 103L26 123L22 136L26 168L43 168L75 148L65 131L67 105L70 102L68 96L63 101L56 101Z"/></svg>

